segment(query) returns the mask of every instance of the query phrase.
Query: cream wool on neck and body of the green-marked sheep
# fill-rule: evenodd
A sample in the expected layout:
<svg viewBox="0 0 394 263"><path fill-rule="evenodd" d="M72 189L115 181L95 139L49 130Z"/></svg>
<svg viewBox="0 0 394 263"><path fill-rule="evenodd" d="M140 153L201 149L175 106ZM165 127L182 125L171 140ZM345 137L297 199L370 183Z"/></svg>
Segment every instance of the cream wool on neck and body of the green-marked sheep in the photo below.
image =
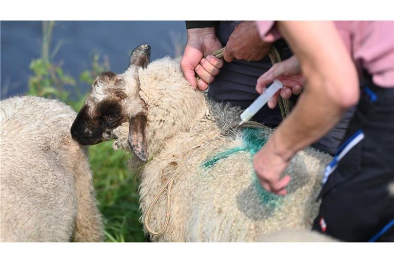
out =
<svg viewBox="0 0 394 263"><path fill-rule="evenodd" d="M209 158L244 146L241 131L221 135L234 121L234 111L210 107L203 93L184 79L179 64L169 58L152 62L138 73L140 97L148 109L146 138L151 158L140 168L142 220L161 187L175 178L167 230L151 235L152 241L256 241L262 234L284 228L311 227L329 155L304 149L285 171L292 176L288 195L278 199L264 193L249 152L233 153L204 167ZM128 123L113 133L114 148L131 151ZM269 136L272 130L264 133ZM133 158L130 166L134 169L138 164ZM149 223L155 230L163 226L165 200L161 197L152 210Z"/></svg>

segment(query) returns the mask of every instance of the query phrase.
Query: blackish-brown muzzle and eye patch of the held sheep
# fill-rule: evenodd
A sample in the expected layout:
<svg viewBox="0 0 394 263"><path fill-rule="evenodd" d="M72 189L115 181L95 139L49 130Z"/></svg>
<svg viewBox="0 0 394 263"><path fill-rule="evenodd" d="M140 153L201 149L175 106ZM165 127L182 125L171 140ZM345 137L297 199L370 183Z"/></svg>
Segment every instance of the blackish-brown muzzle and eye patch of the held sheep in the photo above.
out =
<svg viewBox="0 0 394 263"><path fill-rule="evenodd" d="M84 105L71 126L71 136L82 145L93 145L113 139L112 130L125 121L117 101L104 100L93 110Z"/></svg>

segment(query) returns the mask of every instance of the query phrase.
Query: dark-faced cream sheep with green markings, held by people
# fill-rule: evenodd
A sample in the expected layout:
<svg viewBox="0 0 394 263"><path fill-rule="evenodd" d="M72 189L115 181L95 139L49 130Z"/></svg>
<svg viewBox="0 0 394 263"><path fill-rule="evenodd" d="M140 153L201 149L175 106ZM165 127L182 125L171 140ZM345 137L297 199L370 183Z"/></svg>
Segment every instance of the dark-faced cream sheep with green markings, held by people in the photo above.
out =
<svg viewBox="0 0 394 263"><path fill-rule="evenodd" d="M288 194L266 192L252 157L273 130L232 128L239 108L209 101L178 63L149 64L149 55L141 45L124 73L96 78L71 134L82 144L115 139L114 149L134 153L130 169L141 171L141 220L151 240L257 241L283 228L310 228L331 157L304 149L286 170Z"/></svg>

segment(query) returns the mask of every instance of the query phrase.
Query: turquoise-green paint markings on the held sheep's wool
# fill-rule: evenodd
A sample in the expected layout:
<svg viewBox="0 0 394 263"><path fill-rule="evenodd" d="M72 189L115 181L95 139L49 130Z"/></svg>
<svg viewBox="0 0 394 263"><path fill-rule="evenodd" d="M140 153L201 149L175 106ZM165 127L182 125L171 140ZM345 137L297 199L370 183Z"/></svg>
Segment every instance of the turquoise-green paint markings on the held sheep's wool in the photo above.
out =
<svg viewBox="0 0 394 263"><path fill-rule="evenodd" d="M213 157L208 158L204 163L204 168L211 168L220 160L223 160L234 153L238 152L249 152L251 154L251 158L257 152L260 151L261 147L267 142L267 135L264 134L264 130L261 128L245 128L242 134L242 147L234 147L227 149L219 154L214 155ZM273 193L266 191L259 183L259 179L256 174L253 174L253 184L254 188L258 193L259 199L261 202L268 206L268 209L273 210L275 207L280 205L283 201L283 196L278 196Z"/></svg>

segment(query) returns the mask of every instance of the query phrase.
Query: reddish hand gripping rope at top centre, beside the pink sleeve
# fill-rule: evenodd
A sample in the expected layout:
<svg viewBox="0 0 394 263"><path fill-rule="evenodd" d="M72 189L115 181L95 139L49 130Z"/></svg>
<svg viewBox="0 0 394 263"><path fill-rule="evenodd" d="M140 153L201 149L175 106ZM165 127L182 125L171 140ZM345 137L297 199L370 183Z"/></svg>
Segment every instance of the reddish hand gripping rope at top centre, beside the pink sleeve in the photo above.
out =
<svg viewBox="0 0 394 263"><path fill-rule="evenodd" d="M243 21L235 26L223 55L227 62L232 62L234 59L260 61L270 49L271 44L261 40L254 21Z"/></svg>

